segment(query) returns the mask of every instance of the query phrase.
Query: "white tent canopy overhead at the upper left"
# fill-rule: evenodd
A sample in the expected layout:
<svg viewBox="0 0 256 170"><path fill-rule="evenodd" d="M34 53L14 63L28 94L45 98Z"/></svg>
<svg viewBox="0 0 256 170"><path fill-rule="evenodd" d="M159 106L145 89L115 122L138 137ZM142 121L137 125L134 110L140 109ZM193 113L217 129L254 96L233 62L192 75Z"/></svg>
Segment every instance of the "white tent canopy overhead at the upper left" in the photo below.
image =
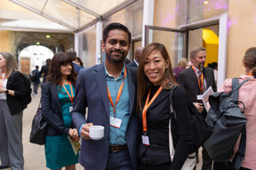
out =
<svg viewBox="0 0 256 170"><path fill-rule="evenodd" d="M0 29L79 32L136 0L1 0Z"/></svg>

